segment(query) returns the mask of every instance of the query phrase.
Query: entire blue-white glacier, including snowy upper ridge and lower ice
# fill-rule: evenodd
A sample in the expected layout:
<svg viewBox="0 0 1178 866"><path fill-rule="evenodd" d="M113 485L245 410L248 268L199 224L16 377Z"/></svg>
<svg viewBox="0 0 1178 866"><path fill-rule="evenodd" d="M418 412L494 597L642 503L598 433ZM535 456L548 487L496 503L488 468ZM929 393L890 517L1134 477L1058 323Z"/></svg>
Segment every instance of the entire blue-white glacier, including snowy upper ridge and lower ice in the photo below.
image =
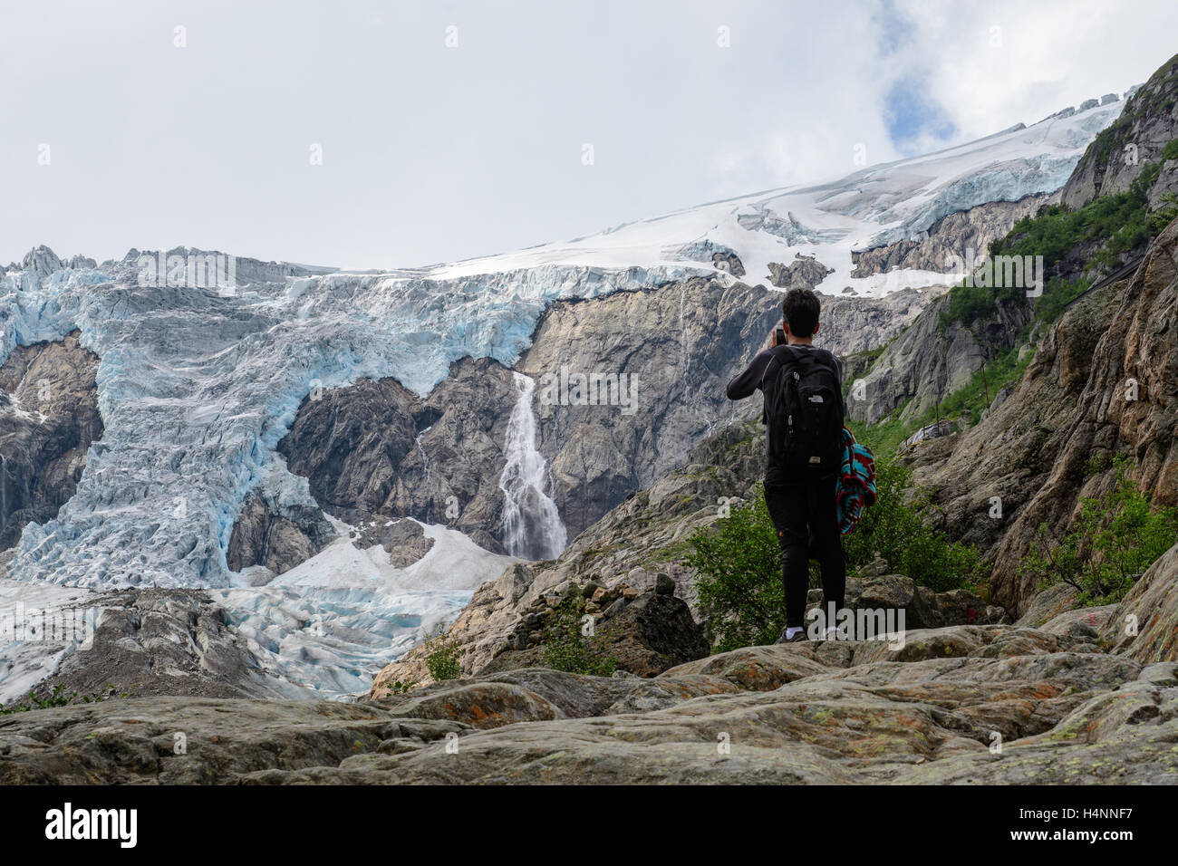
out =
<svg viewBox="0 0 1178 866"><path fill-rule="evenodd" d="M423 629L455 614L477 582L494 579L512 560L465 550L477 568L466 568L463 584L444 591L438 587L455 568L452 556L423 566L415 573L421 587L412 590L391 577L342 587L339 569L355 570L359 560L335 546L331 556L320 553L293 577L282 575L265 587L231 571L225 553L251 491L265 490L279 507L316 504L306 480L292 475L274 450L315 389L392 376L425 396L459 358L490 357L511 366L556 300L693 276L732 280L707 260L712 251L740 256L748 283L768 282L770 262L802 253L834 269L820 286L832 293L852 284L861 296L944 284L945 275L932 271L852 278L852 252L916 237L955 211L1058 189L1121 106L1052 115L820 184L430 267L342 271L241 258L237 284L226 290L140 285L138 250L98 265L77 256L62 262L38 247L0 275L0 361L16 345L80 331L81 344L100 359L105 432L58 516L25 527L8 579L86 590L217 589L251 629L259 652L270 653L276 676L332 693L364 687L377 656L386 662ZM529 501L543 507L541 482L532 481L541 495ZM551 523L551 515L541 517ZM549 529L543 555L564 543L555 525ZM462 549L452 538L446 544ZM266 619L267 610L299 604L310 606L303 612L310 619L278 616L285 624ZM305 637L315 652L289 653L291 635L306 630L292 623L318 621L319 614L346 626L353 646L332 648L326 629ZM371 622L360 628L362 621ZM313 659L287 660L300 655Z"/></svg>

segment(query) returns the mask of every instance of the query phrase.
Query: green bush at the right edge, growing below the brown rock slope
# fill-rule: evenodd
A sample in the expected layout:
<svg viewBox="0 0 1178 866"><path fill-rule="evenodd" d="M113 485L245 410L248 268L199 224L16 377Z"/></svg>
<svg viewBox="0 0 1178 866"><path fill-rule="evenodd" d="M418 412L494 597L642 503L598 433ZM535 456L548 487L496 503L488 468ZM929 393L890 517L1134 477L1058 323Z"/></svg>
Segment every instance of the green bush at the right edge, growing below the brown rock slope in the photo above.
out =
<svg viewBox="0 0 1178 866"><path fill-rule="evenodd" d="M1178 509L1152 508L1150 497L1127 477L1124 458L1114 462L1116 482L1103 496L1080 500L1073 531L1051 537L1046 524L1020 570L1040 588L1066 583L1085 606L1111 604L1125 597L1133 583L1178 541ZM1090 471L1100 464L1090 461Z"/></svg>

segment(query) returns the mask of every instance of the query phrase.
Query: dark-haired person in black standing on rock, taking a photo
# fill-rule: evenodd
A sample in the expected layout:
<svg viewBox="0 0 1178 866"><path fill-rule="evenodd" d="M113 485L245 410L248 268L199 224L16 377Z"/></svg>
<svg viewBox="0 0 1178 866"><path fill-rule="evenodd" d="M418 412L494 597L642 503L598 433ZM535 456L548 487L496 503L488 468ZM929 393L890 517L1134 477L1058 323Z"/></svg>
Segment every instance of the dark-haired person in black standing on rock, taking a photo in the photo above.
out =
<svg viewBox="0 0 1178 866"><path fill-rule="evenodd" d="M779 643L806 640L810 556L822 568L823 612L832 603L835 612L842 609L847 581L836 510L842 365L814 345L820 309L812 290L790 289L781 302L781 326L748 369L728 383L728 399L744 399L756 390L765 397L765 501L781 546L786 597L786 628Z"/></svg>

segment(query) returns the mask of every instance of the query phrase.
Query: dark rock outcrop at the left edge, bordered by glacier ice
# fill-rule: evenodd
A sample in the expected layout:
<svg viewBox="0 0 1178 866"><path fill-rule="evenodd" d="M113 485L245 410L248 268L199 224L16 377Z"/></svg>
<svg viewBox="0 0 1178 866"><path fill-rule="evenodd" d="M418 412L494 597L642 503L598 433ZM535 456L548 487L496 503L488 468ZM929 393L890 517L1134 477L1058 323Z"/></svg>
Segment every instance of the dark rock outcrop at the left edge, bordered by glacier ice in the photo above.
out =
<svg viewBox="0 0 1178 866"><path fill-rule="evenodd" d="M57 516L77 490L87 449L102 436L98 356L78 337L18 346L0 365L0 550L14 546L29 521Z"/></svg>

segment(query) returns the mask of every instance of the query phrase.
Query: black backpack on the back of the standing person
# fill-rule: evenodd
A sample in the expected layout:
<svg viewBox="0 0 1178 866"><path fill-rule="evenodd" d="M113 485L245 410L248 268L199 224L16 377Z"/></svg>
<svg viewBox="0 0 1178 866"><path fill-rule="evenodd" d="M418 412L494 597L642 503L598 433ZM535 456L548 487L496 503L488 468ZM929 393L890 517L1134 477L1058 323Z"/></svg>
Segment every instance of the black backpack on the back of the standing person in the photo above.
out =
<svg viewBox="0 0 1178 866"><path fill-rule="evenodd" d="M842 463L842 388L835 363L822 349L773 349L769 366L779 370L763 390L765 411L770 452L790 472L826 475Z"/></svg>

